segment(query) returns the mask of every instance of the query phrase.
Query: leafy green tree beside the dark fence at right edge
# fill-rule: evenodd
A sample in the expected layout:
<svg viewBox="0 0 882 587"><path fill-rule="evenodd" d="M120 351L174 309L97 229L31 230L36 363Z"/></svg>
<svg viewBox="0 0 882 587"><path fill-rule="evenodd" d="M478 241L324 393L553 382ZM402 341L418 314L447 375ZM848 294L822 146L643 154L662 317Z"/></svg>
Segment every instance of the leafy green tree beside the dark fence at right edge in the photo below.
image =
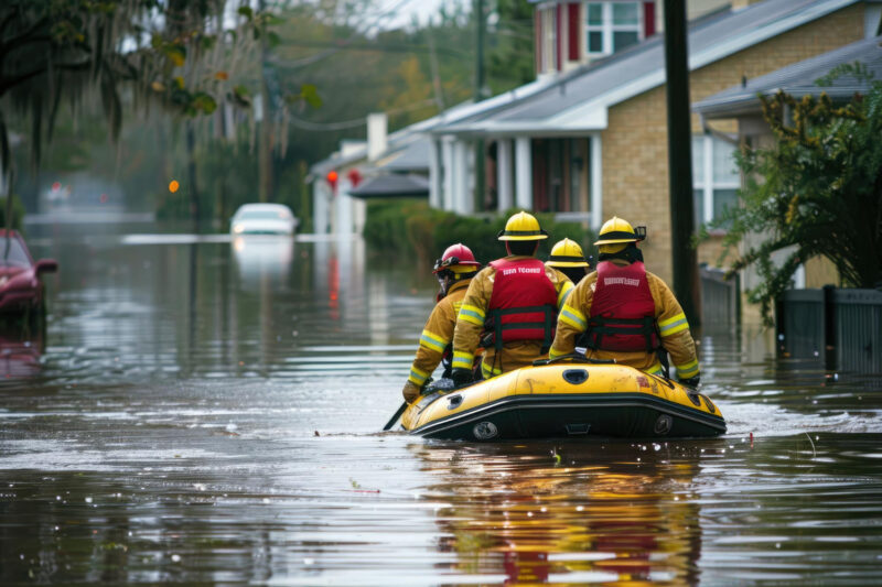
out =
<svg viewBox="0 0 882 587"><path fill-rule="evenodd" d="M865 68L849 65L818 83L846 73L870 81ZM718 226L729 229L727 252L759 242L743 250L731 271L756 267L762 283L749 296L771 324L774 301L814 257L829 259L842 285L882 286L882 83L845 106L825 93L761 99L774 143L739 155L747 178L742 205ZM776 252L783 262L773 261Z"/></svg>

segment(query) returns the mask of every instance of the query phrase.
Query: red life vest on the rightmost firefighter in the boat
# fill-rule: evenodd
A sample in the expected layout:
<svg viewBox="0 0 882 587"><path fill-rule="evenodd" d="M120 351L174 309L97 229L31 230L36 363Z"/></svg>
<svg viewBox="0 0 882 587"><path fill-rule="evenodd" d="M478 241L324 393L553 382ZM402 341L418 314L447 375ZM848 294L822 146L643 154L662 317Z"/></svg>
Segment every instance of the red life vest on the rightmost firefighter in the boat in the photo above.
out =
<svg viewBox="0 0 882 587"><path fill-rule="evenodd" d="M584 345L603 350L645 350L659 347L655 301L639 261L619 267L598 263L598 281L591 302Z"/></svg>

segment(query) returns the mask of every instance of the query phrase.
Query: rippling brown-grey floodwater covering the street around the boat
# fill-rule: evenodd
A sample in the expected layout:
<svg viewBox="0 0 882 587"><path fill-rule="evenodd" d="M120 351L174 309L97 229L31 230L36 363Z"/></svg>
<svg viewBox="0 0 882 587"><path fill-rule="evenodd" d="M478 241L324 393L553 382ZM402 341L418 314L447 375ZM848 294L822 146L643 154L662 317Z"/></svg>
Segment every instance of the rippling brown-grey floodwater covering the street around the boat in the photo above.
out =
<svg viewBox="0 0 882 587"><path fill-rule="evenodd" d="M0 584L878 585L882 384L700 340L714 439L379 433L433 283L359 241L32 227L0 336ZM96 231L97 230L97 231Z"/></svg>

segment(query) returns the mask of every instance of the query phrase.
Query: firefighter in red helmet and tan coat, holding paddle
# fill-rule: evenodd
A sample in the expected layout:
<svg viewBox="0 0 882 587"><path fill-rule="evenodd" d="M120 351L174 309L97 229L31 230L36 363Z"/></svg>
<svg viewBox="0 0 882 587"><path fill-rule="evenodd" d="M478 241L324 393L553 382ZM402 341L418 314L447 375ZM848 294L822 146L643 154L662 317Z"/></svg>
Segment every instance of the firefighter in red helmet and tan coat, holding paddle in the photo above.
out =
<svg viewBox="0 0 882 587"><path fill-rule="evenodd" d="M438 363L443 361L443 377L450 377L452 352L450 343L453 339L453 326L465 290L478 269L481 263L475 261L472 250L462 243L448 247L441 259L434 262L432 273L438 278L441 290L438 292L438 303L422 329L417 357L410 367L410 377L401 391L408 403L419 398L420 391Z"/></svg>

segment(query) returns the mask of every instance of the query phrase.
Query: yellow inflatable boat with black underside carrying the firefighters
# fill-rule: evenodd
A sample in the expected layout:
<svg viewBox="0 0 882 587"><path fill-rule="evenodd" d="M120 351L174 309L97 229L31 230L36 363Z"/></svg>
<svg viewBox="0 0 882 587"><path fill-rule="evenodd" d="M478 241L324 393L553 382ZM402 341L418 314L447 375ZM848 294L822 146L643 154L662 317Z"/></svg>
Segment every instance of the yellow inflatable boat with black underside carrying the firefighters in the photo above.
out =
<svg viewBox="0 0 882 587"><path fill-rule="evenodd" d="M725 433L706 395L632 367L537 361L455 390L430 390L401 415L410 434L451 441L573 436L682 438Z"/></svg>

